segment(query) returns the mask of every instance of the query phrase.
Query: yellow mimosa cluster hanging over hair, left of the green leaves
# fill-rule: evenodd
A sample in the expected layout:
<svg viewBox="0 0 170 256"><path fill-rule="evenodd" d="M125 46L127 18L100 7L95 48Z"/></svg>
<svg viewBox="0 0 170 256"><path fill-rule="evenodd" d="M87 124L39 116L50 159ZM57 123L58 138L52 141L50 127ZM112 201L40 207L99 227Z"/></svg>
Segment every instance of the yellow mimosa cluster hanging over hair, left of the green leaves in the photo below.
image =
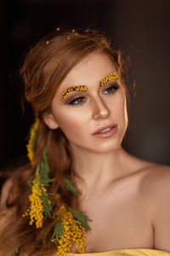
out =
<svg viewBox="0 0 170 256"><path fill-rule="evenodd" d="M42 227L42 220L43 220L43 212L44 208L42 205L42 190L46 192L47 190L44 188L43 184L40 184L35 177L32 181L31 186L31 195L29 195L29 201L31 202L31 207L26 211L22 217L30 216L29 224L32 225L34 222L36 223L37 229Z"/></svg>

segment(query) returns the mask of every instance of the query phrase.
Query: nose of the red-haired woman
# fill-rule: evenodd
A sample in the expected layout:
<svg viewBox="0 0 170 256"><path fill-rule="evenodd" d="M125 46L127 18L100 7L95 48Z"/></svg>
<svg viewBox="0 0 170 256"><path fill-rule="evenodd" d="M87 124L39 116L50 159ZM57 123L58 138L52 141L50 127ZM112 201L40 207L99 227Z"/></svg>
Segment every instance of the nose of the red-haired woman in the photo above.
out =
<svg viewBox="0 0 170 256"><path fill-rule="evenodd" d="M110 113L110 110L107 108L102 98L98 95L95 96L92 101L93 119L107 118Z"/></svg>

